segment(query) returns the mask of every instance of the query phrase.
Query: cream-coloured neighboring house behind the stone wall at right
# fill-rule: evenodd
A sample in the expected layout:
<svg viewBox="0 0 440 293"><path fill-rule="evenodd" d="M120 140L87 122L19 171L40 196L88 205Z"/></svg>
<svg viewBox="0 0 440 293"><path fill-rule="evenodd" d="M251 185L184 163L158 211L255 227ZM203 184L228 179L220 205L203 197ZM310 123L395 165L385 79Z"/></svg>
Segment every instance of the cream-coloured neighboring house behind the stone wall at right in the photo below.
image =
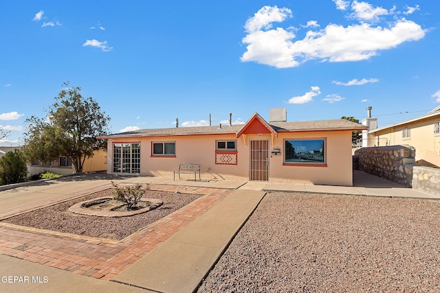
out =
<svg viewBox="0 0 440 293"><path fill-rule="evenodd" d="M367 110L371 110L369 108ZM367 116L369 117L364 119L363 124L366 124L366 121L373 121L373 125L377 127L377 118L371 118L371 113L368 113ZM374 123L374 121L376 122ZM369 147L412 145L415 148L417 163L440 167L440 106L430 110L425 115L390 126L370 127L368 139L364 143L364 146Z"/></svg>

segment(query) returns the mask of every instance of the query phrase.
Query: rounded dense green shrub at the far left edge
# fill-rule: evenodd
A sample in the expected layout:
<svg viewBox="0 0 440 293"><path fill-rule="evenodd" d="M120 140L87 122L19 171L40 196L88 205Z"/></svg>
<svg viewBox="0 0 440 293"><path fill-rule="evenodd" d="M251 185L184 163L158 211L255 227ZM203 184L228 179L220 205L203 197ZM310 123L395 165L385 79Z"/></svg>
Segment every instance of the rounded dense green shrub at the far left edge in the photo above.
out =
<svg viewBox="0 0 440 293"><path fill-rule="evenodd" d="M28 167L23 152L7 152L0 158L0 185L19 183L26 180Z"/></svg>

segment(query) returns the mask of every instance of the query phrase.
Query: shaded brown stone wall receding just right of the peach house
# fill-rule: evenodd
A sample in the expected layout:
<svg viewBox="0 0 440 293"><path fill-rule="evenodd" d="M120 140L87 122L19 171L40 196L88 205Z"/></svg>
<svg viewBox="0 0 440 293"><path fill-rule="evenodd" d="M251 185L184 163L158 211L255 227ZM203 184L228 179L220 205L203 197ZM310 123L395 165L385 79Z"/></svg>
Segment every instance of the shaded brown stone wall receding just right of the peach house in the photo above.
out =
<svg viewBox="0 0 440 293"><path fill-rule="evenodd" d="M363 172L412 187L415 148L411 145L361 148L355 151L353 166Z"/></svg>

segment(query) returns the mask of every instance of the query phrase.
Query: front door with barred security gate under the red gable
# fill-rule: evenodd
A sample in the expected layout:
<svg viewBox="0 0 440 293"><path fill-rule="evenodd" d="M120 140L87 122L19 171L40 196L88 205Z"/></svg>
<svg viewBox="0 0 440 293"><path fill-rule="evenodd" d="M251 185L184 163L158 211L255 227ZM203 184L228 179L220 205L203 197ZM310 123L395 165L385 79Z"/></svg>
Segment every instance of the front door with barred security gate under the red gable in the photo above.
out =
<svg viewBox="0 0 440 293"><path fill-rule="evenodd" d="M269 141L252 139L250 141L249 180L269 180Z"/></svg>

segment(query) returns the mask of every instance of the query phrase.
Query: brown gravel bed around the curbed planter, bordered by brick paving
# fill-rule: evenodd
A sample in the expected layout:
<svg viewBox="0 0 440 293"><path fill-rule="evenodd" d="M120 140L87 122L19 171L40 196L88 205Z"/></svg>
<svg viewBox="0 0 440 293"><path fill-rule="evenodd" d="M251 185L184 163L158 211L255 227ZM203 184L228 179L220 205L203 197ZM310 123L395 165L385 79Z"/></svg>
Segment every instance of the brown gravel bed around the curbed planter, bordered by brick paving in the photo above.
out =
<svg viewBox="0 0 440 293"><path fill-rule="evenodd" d="M3 220L3 222L91 237L123 239L140 228L156 222L166 215L173 213L173 211L177 211L181 207L186 206L186 204L189 204L202 195L176 194L170 191L148 190L144 193L145 197L160 199L164 204L146 213L121 218L79 215L68 210L69 207L77 202L103 196L113 197L113 189L98 191L88 196L76 198L75 200L68 200L67 202L54 204L50 207L23 213L22 215Z"/></svg>

